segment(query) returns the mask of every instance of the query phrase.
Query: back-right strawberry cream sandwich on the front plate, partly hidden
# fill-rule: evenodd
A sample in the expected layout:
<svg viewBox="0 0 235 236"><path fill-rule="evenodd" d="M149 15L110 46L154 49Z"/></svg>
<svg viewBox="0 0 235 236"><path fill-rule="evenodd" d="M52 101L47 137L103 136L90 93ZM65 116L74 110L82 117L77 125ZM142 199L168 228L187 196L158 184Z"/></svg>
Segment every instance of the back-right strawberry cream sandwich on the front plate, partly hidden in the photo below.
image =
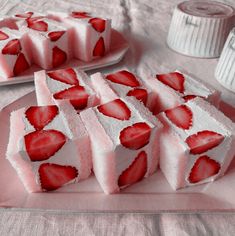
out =
<svg viewBox="0 0 235 236"><path fill-rule="evenodd" d="M195 97L202 97L215 106L219 105L220 93L213 86L180 71L157 74L145 83L157 96L154 114L176 107Z"/></svg>

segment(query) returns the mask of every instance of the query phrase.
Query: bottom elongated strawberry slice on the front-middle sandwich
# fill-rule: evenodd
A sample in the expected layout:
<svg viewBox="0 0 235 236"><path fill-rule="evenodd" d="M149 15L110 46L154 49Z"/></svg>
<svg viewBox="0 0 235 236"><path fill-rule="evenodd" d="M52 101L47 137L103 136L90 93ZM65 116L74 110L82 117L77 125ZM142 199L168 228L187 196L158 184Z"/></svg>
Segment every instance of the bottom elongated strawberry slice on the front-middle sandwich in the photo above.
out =
<svg viewBox="0 0 235 236"><path fill-rule="evenodd" d="M134 184L142 180L147 172L147 154L142 151L138 154L132 164L122 172L118 179L120 187Z"/></svg>

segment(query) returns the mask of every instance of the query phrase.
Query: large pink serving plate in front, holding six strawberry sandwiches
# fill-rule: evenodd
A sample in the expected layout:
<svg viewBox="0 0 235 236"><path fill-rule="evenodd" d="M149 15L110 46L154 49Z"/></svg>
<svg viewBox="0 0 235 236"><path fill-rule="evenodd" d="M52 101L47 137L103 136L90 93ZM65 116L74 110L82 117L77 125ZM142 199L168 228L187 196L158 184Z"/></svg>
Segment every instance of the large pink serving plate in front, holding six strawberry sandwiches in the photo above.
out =
<svg viewBox="0 0 235 236"><path fill-rule="evenodd" d="M158 170L153 176L120 194L105 195L94 176L50 193L28 194L14 169L5 159L11 111L36 104L29 93L0 112L0 207L69 212L235 212L235 160L224 177L216 182L173 191Z"/></svg>

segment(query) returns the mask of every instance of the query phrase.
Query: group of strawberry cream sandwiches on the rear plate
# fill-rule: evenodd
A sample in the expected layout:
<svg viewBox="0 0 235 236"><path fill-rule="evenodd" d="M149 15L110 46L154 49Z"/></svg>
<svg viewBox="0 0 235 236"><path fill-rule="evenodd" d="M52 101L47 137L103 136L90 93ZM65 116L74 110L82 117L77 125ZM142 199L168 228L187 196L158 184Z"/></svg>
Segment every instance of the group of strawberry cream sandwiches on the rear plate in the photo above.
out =
<svg viewBox="0 0 235 236"><path fill-rule="evenodd" d="M110 49L111 20L86 12L34 12L0 19L0 81L21 75L32 64L48 70L76 58L85 62Z"/></svg>

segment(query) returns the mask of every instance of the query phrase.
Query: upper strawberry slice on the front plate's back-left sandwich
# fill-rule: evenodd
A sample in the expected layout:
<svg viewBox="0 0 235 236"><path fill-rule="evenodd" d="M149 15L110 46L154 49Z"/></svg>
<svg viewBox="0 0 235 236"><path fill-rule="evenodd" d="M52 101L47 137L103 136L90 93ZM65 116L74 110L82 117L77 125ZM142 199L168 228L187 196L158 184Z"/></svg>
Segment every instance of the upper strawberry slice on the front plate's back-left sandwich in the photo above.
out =
<svg viewBox="0 0 235 236"><path fill-rule="evenodd" d="M47 75L54 80L58 80L65 84L79 85L76 72L73 68L60 69L48 72Z"/></svg>

